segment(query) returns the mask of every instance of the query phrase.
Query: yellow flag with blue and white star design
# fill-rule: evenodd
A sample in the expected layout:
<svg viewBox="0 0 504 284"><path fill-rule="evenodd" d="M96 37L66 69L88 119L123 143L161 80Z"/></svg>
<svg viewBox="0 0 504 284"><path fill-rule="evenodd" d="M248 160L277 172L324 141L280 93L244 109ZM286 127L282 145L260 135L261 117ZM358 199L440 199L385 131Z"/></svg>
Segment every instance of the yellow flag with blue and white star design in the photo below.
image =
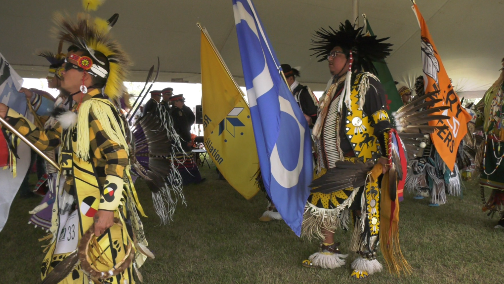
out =
<svg viewBox="0 0 504 284"><path fill-rule="evenodd" d="M229 184L250 199L259 191L253 178L259 158L250 109L207 30L199 27L205 148Z"/></svg>

